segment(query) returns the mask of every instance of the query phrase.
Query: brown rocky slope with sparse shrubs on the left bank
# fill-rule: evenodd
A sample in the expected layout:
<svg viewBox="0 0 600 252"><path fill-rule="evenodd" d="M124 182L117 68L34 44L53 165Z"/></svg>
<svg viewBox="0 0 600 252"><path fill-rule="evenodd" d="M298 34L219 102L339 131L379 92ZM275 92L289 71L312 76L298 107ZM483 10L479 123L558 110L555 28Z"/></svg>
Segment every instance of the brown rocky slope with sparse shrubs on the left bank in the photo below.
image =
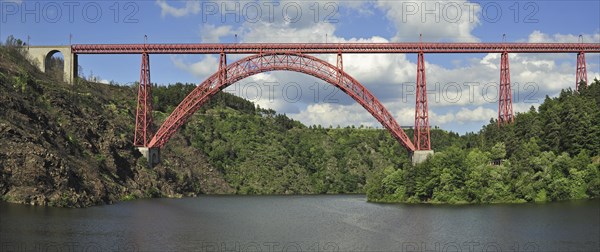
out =
<svg viewBox="0 0 600 252"><path fill-rule="evenodd" d="M0 48L0 199L87 207L233 191L180 137L163 151L167 162L146 167L132 146L131 87L61 84L6 54Z"/></svg>

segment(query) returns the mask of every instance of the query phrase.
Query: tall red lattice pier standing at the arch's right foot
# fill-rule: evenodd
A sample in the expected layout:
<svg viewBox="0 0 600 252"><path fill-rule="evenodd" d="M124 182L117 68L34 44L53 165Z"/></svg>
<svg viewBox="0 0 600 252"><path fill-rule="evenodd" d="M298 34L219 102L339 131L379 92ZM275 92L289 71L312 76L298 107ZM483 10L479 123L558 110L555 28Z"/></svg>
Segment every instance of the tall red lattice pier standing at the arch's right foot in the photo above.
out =
<svg viewBox="0 0 600 252"><path fill-rule="evenodd" d="M425 55L419 52L417 63L417 99L415 104L414 141L417 150L431 150L429 140L429 108L427 105L427 82L425 78Z"/></svg>

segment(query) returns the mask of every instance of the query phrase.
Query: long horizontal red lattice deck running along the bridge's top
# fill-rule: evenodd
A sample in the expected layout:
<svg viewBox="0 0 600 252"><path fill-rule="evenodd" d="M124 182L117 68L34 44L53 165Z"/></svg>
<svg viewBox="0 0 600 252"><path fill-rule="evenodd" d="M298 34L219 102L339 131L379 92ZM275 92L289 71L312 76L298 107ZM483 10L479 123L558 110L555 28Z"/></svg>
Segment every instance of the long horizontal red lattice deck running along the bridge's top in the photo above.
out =
<svg viewBox="0 0 600 252"><path fill-rule="evenodd" d="M600 53L600 43L241 43L76 44L76 54Z"/></svg>

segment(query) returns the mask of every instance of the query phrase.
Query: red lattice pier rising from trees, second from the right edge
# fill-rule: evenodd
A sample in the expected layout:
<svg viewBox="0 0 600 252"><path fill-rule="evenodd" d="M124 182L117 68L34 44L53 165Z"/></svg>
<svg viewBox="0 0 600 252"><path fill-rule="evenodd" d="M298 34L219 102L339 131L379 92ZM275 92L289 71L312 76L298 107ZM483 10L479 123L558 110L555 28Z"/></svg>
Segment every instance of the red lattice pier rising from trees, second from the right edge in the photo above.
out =
<svg viewBox="0 0 600 252"><path fill-rule="evenodd" d="M510 87L510 67L508 52L500 57L500 91L498 93L498 126L514 122L512 110L512 89Z"/></svg>

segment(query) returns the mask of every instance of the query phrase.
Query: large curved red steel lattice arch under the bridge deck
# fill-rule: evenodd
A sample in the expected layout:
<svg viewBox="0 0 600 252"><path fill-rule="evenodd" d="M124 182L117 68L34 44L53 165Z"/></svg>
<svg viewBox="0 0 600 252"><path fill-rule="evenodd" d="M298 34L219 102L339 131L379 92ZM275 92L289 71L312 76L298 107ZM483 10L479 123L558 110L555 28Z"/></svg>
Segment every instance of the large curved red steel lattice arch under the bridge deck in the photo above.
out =
<svg viewBox="0 0 600 252"><path fill-rule="evenodd" d="M222 53L221 62L225 62L224 57ZM383 104L356 79L324 60L301 53L272 52L248 56L227 66L220 65L216 73L198 85L169 115L150 141L149 148L163 147L204 103L227 86L263 72L294 71L312 75L341 89L371 113L404 148L415 151L413 143Z"/></svg>

